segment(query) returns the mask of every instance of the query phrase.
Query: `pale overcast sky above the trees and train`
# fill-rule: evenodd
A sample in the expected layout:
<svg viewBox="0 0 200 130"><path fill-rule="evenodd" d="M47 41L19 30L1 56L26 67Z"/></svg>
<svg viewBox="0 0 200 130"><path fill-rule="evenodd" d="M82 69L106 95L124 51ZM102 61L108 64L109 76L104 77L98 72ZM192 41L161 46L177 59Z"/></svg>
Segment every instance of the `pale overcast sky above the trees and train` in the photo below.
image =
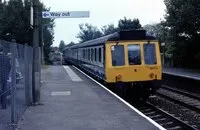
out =
<svg viewBox="0 0 200 130"><path fill-rule="evenodd" d="M51 11L90 11L89 18L58 18L55 20L53 46L63 40L77 43L79 24L90 23L99 29L107 24L117 26L118 20L138 18L143 25L164 19L163 0L41 0Z"/></svg>

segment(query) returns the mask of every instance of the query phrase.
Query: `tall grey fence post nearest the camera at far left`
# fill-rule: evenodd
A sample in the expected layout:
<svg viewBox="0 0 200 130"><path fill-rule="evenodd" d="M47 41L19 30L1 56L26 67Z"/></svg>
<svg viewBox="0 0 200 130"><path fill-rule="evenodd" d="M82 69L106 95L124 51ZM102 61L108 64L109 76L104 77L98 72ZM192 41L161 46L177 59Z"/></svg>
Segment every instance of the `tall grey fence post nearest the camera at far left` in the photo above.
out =
<svg viewBox="0 0 200 130"><path fill-rule="evenodd" d="M12 79L12 90L11 90L11 123L16 124L16 66L15 66L15 56L16 56L16 42L13 39L11 44L11 79Z"/></svg>

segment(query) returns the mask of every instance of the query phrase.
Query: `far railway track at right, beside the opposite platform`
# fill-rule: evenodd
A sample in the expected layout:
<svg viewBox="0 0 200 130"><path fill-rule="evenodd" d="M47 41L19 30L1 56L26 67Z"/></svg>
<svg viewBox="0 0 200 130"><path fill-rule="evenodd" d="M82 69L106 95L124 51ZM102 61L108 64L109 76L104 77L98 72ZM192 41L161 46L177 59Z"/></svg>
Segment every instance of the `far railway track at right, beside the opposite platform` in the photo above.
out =
<svg viewBox="0 0 200 130"><path fill-rule="evenodd" d="M168 86L162 86L156 94L193 111L200 112L200 97L198 95L170 88Z"/></svg>

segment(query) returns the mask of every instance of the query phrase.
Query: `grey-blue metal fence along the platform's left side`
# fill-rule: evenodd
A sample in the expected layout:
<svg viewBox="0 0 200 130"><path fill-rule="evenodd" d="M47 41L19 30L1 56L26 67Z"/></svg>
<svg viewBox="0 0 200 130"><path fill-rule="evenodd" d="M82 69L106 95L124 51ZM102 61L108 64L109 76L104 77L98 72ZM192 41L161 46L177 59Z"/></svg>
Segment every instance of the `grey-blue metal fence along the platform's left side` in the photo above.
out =
<svg viewBox="0 0 200 130"><path fill-rule="evenodd" d="M32 102L33 49L0 40L0 130L12 129Z"/></svg>

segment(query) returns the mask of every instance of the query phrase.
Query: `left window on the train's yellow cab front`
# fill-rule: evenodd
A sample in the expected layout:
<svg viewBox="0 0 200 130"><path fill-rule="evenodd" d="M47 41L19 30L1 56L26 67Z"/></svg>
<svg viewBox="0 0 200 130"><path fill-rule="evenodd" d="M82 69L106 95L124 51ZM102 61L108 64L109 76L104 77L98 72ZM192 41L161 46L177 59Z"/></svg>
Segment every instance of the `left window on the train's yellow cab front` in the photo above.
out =
<svg viewBox="0 0 200 130"><path fill-rule="evenodd" d="M125 64L124 46L123 45L111 46L111 52L112 52L112 65L123 66Z"/></svg>

